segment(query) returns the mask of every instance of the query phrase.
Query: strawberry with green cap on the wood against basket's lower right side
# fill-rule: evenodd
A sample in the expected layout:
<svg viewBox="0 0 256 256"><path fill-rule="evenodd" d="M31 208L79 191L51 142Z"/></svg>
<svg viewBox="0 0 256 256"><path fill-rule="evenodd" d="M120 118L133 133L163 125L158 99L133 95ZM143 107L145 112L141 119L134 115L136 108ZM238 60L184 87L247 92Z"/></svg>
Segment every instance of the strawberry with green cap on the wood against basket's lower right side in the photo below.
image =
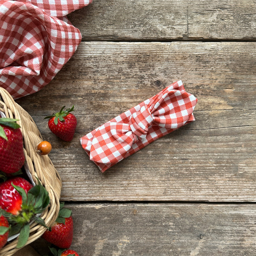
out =
<svg viewBox="0 0 256 256"><path fill-rule="evenodd" d="M71 210L63 207L64 203L61 203L58 218L51 231L45 231L42 237L59 248L69 248L73 240L73 218Z"/></svg>

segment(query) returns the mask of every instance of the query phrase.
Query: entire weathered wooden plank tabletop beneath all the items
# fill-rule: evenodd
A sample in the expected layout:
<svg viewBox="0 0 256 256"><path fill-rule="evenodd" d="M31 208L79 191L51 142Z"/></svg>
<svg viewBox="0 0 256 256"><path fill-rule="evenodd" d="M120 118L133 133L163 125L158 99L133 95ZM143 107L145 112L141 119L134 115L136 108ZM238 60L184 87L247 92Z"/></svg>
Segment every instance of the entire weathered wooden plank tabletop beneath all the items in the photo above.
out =
<svg viewBox="0 0 256 256"><path fill-rule="evenodd" d="M17 102L52 143L80 256L255 255L255 9L254 0L94 0L68 15L82 34L77 52ZM180 79L198 98L196 121L100 173L79 138ZM43 117L73 104L67 143ZM43 239L32 245L47 255Z"/></svg>

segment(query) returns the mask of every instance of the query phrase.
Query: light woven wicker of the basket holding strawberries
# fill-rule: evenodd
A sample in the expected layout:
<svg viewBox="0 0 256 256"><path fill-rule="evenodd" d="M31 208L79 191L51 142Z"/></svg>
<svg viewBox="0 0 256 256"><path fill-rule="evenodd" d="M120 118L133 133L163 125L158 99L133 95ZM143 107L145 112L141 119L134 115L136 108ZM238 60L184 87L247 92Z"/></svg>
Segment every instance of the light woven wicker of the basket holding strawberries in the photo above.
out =
<svg viewBox="0 0 256 256"><path fill-rule="evenodd" d="M0 87L0 111L9 118L19 119L17 123L20 125L23 134L23 150L26 158L26 169L32 182L37 183L36 177L41 181L45 189L49 192L49 207L42 213L41 218L44 219L47 226L51 226L58 217L59 199L61 195L61 178L54 168L49 157L40 155L36 152L36 147L43 138L32 117L23 108L18 105L12 96L2 87ZM30 225L29 240L26 244L38 239L44 231L45 227L32 223ZM11 256L17 252L17 238L6 244L0 250L0 256Z"/></svg>

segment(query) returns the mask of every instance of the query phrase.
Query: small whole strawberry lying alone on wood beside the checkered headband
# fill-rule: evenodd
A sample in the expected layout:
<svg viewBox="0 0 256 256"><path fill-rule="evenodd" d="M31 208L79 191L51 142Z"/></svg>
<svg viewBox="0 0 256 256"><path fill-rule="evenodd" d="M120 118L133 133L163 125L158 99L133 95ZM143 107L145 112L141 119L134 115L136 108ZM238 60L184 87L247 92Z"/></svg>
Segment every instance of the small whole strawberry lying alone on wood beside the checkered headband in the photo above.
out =
<svg viewBox="0 0 256 256"><path fill-rule="evenodd" d="M61 108L61 111L52 114L51 116L46 116L44 119L48 119L48 126L53 134L61 138L64 141L71 141L76 130L76 116L74 116L71 111L74 111L74 105L72 108L64 110L65 106Z"/></svg>

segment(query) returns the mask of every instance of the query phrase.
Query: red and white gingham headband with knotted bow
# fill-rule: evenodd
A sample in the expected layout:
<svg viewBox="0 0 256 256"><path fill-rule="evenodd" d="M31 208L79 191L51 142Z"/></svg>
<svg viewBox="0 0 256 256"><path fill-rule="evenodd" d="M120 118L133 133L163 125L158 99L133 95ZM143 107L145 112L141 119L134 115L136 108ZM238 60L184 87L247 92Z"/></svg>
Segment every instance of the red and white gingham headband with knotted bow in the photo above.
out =
<svg viewBox="0 0 256 256"><path fill-rule="evenodd" d="M182 81L81 137L86 153L102 172L149 143L195 120L197 99Z"/></svg>

